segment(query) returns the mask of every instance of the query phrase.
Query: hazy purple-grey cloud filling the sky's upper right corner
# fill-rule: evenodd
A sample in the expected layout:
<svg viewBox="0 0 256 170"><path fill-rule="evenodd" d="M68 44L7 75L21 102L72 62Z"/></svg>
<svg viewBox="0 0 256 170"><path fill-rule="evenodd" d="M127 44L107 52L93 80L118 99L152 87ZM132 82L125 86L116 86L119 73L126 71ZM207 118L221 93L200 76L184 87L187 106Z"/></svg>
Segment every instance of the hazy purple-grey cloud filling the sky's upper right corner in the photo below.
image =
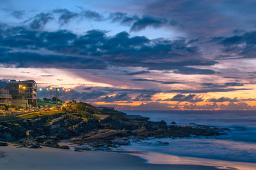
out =
<svg viewBox="0 0 256 170"><path fill-rule="evenodd" d="M159 0L143 4L144 15L164 16L171 20L172 29L185 32L189 36L220 36L234 29L251 29L255 20L253 9L256 4L248 1L190 1ZM253 11L253 12L250 12ZM237 18L240 18L237 20Z"/></svg>

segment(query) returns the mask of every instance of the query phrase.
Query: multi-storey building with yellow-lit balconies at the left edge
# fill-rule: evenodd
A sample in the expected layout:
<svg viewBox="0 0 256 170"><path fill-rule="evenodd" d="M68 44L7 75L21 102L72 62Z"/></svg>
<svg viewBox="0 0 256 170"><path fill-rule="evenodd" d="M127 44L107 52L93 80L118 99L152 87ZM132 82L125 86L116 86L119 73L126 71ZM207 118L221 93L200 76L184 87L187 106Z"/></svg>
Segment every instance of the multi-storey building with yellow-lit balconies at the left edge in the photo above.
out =
<svg viewBox="0 0 256 170"><path fill-rule="evenodd" d="M0 80L0 89L9 91L11 104L16 107L31 108L37 106L37 85L34 80Z"/></svg>

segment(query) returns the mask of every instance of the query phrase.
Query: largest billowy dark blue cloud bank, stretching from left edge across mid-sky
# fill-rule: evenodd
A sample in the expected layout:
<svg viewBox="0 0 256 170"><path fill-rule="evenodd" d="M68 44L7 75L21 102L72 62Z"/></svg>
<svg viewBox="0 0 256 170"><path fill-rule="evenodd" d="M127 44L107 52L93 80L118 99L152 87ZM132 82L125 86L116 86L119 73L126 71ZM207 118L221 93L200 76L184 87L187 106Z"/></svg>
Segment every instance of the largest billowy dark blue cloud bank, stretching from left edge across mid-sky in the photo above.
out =
<svg viewBox="0 0 256 170"><path fill-rule="evenodd" d="M46 54L44 57L41 56L42 49L50 50L51 53L60 53L52 55L52 57L65 64L63 66L56 64L56 66L77 69L102 69L106 68L106 63L108 63L118 67L173 70L173 73L181 74L214 74L215 71L211 69L200 69L193 66L213 66L218 63L214 60L204 59L196 46L186 45L185 39L150 40L145 36L131 37L127 32L106 36L106 31L91 30L80 36L66 30L42 32L31 31L24 27L8 27L0 32L0 45L13 50L12 53L2 52L6 54L3 54L5 57L1 63L15 63L19 67L53 67L54 64L45 62L44 58L49 59ZM32 55L31 52L20 52L20 57L14 56L12 60L6 58L15 55L17 53L15 50L20 48L34 50L35 58L29 57ZM40 50L38 54L36 54L36 50ZM28 54L28 63L31 65L19 64L22 62L21 57L25 57L25 53ZM64 57L66 55L69 57ZM81 57L77 57L77 55ZM90 59L87 58L88 56ZM76 64L70 66L70 61L74 63L75 59L77 59ZM35 64L32 63L33 61ZM41 63L38 64L38 62ZM95 66L93 67L93 63L88 66L83 62L95 62Z"/></svg>

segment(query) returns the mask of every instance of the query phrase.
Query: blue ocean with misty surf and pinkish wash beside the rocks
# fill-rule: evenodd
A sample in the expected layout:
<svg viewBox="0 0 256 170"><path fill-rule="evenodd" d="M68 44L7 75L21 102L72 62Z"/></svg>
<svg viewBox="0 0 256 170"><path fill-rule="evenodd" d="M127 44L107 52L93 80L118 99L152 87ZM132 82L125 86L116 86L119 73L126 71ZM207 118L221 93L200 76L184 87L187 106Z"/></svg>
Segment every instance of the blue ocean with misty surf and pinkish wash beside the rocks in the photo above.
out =
<svg viewBox="0 0 256 170"><path fill-rule="evenodd" d="M201 164L222 169L256 169L256 111L123 111L128 115L227 127L227 135L202 138L147 139L122 146L155 164ZM169 145L163 145L168 142Z"/></svg>

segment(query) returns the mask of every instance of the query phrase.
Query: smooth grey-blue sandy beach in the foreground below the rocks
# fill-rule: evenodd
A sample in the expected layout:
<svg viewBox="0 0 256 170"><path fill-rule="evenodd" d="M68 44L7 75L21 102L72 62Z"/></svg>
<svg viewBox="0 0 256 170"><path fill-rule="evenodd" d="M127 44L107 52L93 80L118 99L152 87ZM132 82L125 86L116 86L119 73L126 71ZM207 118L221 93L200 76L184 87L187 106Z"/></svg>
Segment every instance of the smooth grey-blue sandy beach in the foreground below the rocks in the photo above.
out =
<svg viewBox="0 0 256 170"><path fill-rule="evenodd" d="M0 169L216 169L210 166L147 164L127 153L74 152L56 148L2 146Z"/></svg>

